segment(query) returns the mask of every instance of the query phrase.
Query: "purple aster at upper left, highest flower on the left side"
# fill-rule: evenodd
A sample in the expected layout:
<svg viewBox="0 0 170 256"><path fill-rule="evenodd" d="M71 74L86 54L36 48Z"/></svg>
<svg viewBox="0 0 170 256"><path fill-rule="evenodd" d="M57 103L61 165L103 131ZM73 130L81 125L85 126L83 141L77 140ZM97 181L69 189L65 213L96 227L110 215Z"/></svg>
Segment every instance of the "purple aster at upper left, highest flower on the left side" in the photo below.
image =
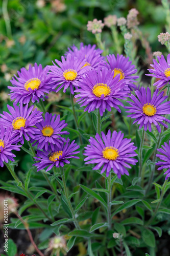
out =
<svg viewBox="0 0 170 256"><path fill-rule="evenodd" d="M34 67L29 66L29 70L22 68L18 71L18 77L14 75L11 83L13 86L8 86L11 93L11 100L15 99L15 103L28 104L30 100L39 102L39 98L42 98L45 93L49 93L52 90L52 84L48 71L50 66L46 66L42 69L42 66Z"/></svg>

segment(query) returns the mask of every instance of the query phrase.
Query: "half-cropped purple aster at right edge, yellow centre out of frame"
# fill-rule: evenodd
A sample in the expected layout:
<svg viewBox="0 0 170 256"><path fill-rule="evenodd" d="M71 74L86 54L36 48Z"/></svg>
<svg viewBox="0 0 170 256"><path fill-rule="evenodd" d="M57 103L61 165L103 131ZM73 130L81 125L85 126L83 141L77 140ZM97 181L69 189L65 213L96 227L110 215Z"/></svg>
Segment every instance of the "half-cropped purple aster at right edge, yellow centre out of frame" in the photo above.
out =
<svg viewBox="0 0 170 256"><path fill-rule="evenodd" d="M164 142L164 146L162 145L162 148L157 148L157 151L160 152L162 155L157 154L156 157L159 157L160 160L163 160L161 162L156 163L156 165L161 165L161 167L158 168L158 170L167 169L164 175L166 175L165 180L167 180L170 177L170 140L169 144Z"/></svg>

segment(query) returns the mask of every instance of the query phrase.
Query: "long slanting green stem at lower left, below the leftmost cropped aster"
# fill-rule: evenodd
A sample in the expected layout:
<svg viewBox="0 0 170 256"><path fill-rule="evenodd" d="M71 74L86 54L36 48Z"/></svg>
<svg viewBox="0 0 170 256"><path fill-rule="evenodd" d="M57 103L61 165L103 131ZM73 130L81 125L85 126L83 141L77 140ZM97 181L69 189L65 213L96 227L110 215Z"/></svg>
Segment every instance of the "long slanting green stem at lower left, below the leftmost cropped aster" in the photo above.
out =
<svg viewBox="0 0 170 256"><path fill-rule="evenodd" d="M17 183L17 184L21 183L21 181L18 179L17 175L15 174L15 172L14 172L14 170L11 168L11 166L10 166L8 163L6 163L6 166L7 166L7 168L9 169L9 171L10 171L12 177L14 178L14 180L16 181L16 183ZM39 206L39 204L34 201L34 196L31 195L31 193L29 193L29 191L27 191L27 189L22 185L22 183L21 183L20 187L21 187L22 190L27 194L28 198L29 198L32 202L34 202L34 204L40 209L40 211L43 213L43 215L44 215L48 220L51 220L51 221L53 222L54 220L52 220L51 218L49 218L49 217L45 214L45 212L44 212L44 210L41 208L41 206Z"/></svg>

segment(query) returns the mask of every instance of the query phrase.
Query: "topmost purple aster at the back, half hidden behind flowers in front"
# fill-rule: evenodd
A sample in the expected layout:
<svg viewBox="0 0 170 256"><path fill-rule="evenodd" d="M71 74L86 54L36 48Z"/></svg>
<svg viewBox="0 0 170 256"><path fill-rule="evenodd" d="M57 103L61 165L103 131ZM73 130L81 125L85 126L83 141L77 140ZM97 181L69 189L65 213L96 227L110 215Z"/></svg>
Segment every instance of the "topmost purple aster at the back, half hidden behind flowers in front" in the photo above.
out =
<svg viewBox="0 0 170 256"><path fill-rule="evenodd" d="M66 52L66 56L68 54L71 54L76 57L76 59L81 59L83 61L86 59L85 65L91 66L92 68L97 68L100 64L104 63L104 57L101 56L103 50L95 49L95 45L91 46L84 46L83 42L80 44L80 50L74 45L70 48L68 48L68 52Z"/></svg>

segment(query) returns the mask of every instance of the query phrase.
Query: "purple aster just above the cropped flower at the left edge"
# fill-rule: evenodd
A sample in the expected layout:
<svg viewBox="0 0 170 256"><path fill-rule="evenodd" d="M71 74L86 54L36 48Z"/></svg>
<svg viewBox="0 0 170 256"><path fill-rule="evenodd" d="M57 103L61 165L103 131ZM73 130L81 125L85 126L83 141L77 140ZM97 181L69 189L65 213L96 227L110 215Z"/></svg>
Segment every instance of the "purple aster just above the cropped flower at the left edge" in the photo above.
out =
<svg viewBox="0 0 170 256"><path fill-rule="evenodd" d="M28 108L28 104L17 106L13 103L12 106L7 105L7 108L11 115L8 112L3 112L4 115L0 114L0 123L4 126L12 127L12 134L16 137L18 141L23 144L23 136L26 140L30 140L30 137L34 139L34 134L37 131L37 128L34 125L42 120L42 112L34 109L34 105ZM34 110L33 110L34 109Z"/></svg>

